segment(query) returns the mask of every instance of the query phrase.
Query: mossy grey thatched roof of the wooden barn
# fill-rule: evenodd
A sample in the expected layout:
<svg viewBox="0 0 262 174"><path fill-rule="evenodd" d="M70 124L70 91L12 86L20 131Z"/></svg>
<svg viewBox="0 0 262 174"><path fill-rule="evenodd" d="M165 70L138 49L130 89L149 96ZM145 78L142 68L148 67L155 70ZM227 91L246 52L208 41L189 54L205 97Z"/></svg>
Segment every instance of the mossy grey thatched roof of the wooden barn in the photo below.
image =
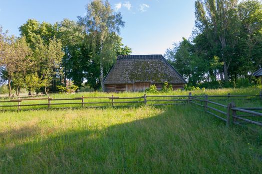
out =
<svg viewBox="0 0 262 174"><path fill-rule="evenodd" d="M104 84L186 84L183 77L162 55L118 56L115 65L104 79Z"/></svg>

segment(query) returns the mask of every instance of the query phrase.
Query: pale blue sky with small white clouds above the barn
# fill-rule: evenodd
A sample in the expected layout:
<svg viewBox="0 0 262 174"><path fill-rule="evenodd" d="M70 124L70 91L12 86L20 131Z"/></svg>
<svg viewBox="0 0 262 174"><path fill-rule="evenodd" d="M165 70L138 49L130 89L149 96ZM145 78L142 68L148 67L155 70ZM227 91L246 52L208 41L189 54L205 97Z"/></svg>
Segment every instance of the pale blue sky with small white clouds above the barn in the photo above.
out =
<svg viewBox="0 0 262 174"><path fill-rule="evenodd" d="M19 35L28 18L54 23L83 16L90 0L0 0L0 25ZM174 42L188 38L194 27L195 0L109 0L126 22L123 43L132 54L164 54Z"/></svg>

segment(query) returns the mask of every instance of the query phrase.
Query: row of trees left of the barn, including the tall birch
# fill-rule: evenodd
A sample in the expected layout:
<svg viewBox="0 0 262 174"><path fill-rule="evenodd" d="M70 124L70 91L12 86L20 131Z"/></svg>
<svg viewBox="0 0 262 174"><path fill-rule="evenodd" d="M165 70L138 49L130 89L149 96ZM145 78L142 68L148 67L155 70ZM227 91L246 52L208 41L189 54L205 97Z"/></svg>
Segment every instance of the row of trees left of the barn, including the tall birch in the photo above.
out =
<svg viewBox="0 0 262 174"><path fill-rule="evenodd" d="M83 82L97 90L117 55L132 52L119 36L124 24L108 1L93 0L78 21L28 19L19 27L20 37L0 27L1 82L7 82L9 96L13 89L16 95L21 88L47 93L61 86L77 89Z"/></svg>

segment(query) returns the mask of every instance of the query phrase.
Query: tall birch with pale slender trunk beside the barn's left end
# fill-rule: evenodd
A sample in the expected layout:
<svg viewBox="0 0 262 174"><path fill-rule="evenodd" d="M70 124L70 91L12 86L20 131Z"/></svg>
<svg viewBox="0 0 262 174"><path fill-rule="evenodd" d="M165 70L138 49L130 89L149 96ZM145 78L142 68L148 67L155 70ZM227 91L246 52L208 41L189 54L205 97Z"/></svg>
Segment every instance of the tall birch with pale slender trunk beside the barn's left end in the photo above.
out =
<svg viewBox="0 0 262 174"><path fill-rule="evenodd" d="M111 33L119 33L120 27L124 27L125 23L122 20L121 13L114 12L107 0L105 2L102 0L93 0L87 5L86 10L86 16L78 16L78 20L80 24L85 26L87 34L90 34L95 40L97 40L97 42L93 41L92 43L95 48L99 48L98 52L96 52L95 48L93 50L95 51L94 54L99 58L99 79L102 89L104 90L103 64L113 58L111 52L106 52L108 45L105 44L105 41L111 43L108 41L108 36Z"/></svg>

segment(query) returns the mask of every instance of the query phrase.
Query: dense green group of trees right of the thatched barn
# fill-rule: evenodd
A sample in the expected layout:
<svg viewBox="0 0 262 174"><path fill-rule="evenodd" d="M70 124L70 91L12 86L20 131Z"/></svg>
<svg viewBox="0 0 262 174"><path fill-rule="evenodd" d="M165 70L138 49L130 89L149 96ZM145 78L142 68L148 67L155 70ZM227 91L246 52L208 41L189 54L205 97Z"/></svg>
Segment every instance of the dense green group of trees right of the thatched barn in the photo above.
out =
<svg viewBox="0 0 262 174"><path fill-rule="evenodd" d="M188 86L260 83L252 74L262 67L262 3L238 1L196 0L192 36L165 54Z"/></svg>

